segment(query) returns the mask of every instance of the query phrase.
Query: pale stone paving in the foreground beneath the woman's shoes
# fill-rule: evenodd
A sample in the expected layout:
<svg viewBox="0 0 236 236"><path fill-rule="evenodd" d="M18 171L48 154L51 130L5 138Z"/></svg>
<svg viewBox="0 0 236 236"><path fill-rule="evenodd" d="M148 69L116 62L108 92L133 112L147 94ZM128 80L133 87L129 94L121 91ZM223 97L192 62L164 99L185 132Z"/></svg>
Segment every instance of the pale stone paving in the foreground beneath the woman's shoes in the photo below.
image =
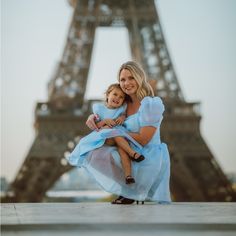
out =
<svg viewBox="0 0 236 236"><path fill-rule="evenodd" d="M2 235L236 235L236 203L1 204Z"/></svg>

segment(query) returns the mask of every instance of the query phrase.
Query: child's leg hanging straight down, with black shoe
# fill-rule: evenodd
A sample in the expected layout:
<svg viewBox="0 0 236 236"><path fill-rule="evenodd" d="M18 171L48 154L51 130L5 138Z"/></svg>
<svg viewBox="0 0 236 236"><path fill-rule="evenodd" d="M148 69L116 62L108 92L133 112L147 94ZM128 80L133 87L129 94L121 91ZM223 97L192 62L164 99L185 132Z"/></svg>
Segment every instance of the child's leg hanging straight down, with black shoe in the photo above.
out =
<svg viewBox="0 0 236 236"><path fill-rule="evenodd" d="M126 184L135 183L135 180L131 174L131 160L128 154L121 147L117 147L117 149L120 154L121 164L125 173Z"/></svg>

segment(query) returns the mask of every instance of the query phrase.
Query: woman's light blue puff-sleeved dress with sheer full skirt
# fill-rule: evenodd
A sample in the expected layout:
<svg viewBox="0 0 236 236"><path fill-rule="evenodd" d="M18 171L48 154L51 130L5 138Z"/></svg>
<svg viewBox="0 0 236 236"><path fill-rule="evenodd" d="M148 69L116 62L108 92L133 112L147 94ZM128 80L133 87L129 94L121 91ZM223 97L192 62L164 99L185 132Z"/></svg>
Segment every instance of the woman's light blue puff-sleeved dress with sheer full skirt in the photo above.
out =
<svg viewBox="0 0 236 236"><path fill-rule="evenodd" d="M116 147L103 145L86 153L81 161L74 163L84 167L107 192L135 200L151 200L161 203L171 201L169 191L170 158L167 145L161 143L160 125L164 105L159 97L145 97L137 113L126 118L124 127L128 132L138 132L141 127L156 127L152 139L143 147L130 140L133 149L145 156L142 162L132 162L132 176L135 183L125 184L124 172ZM122 129L117 129L119 136ZM119 130L122 132L119 134ZM111 135L108 132L108 136ZM106 134L105 134L106 135ZM125 136L123 134L123 136ZM126 133L126 138L127 136Z"/></svg>

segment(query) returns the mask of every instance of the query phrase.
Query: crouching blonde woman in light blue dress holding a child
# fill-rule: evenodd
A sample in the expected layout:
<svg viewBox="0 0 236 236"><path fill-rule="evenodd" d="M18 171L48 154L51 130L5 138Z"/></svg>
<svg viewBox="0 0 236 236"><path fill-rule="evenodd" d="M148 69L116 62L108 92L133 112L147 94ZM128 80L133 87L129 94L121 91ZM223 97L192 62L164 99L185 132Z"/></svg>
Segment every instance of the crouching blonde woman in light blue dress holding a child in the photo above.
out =
<svg viewBox="0 0 236 236"><path fill-rule="evenodd" d="M169 178L170 159L166 144L160 140L160 125L164 105L159 97L153 97L142 68L133 61L124 63L118 73L121 89L128 96L124 126L131 138L142 145L145 160L132 162L132 173L136 182L123 183L123 171L118 147L102 146L88 153L83 167L108 192L118 195L113 204L132 204L136 201L151 200L170 202ZM86 124L97 129L91 115ZM130 143L133 149L138 147ZM119 151L119 152L118 152Z"/></svg>

